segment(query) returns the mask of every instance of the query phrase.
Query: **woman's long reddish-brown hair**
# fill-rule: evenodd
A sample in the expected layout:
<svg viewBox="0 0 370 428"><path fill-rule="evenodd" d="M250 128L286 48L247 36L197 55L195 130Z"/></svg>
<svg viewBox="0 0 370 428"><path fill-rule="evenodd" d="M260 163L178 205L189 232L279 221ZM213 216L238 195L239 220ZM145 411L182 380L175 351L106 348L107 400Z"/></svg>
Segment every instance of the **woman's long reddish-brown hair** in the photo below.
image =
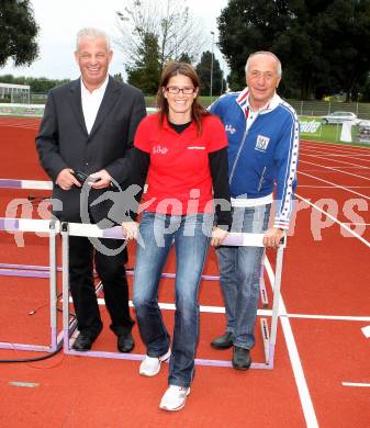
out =
<svg viewBox="0 0 370 428"><path fill-rule="evenodd" d="M168 63L161 72L160 83L157 92L157 105L159 109L160 122L164 122L165 116L168 117L168 101L164 95L162 88L167 88L170 78L178 75L189 77L194 88L199 88L199 77L190 64L177 61ZM209 114L209 112L200 104L198 97L199 93L197 94L197 98L194 98L191 106L191 117L193 121L195 121L198 134L201 134L202 116Z"/></svg>

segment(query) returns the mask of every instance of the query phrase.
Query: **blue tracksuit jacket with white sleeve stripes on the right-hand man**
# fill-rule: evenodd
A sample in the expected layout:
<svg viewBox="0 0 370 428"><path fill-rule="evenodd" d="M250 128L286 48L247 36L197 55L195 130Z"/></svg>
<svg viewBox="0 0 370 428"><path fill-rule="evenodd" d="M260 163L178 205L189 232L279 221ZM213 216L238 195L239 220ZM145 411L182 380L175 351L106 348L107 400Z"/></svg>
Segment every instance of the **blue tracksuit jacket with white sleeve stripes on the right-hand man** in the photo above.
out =
<svg viewBox="0 0 370 428"><path fill-rule="evenodd" d="M257 206L272 202L277 182L273 227L288 229L296 187L298 116L274 94L247 129L248 98L246 88L221 97L209 109L222 120L228 138L232 204Z"/></svg>

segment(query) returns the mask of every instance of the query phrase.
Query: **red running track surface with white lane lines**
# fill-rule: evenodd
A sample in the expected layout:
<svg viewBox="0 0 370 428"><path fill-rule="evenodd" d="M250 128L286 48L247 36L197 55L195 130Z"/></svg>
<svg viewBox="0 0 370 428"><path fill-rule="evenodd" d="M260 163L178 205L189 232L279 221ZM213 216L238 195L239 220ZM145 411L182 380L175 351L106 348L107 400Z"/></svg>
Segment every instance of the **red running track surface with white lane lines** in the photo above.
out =
<svg viewBox="0 0 370 428"><path fill-rule="evenodd" d="M34 149L36 127L32 120L0 119L0 178L47 179ZM285 250L284 306L272 371L199 367L187 406L168 415L158 409L166 368L158 378L145 379L137 374L137 363L119 360L59 354L45 362L3 364L2 426L368 427L370 339L361 328L370 325L369 170L368 148L302 142L301 199ZM26 195L27 191L0 190L1 216L13 198ZM13 236L0 233L0 262L47 263L45 239L27 235L19 248ZM273 254L269 256L273 259ZM171 257L166 270L173 269ZM213 251L205 271L217 274ZM47 340L47 281L0 277L0 340ZM160 301L173 302L171 280L164 280ZM222 305L216 282L202 284L200 303ZM103 306L102 314L106 319ZM172 315L165 312L169 326ZM114 350L106 326L108 319L96 349ZM231 358L229 350L217 352L209 346L223 329L222 315L201 315L199 358ZM135 352L144 352L136 328L134 335ZM257 360L261 354L259 338L253 357ZM0 356L23 357L24 352L0 351ZM13 381L34 385L14 386Z"/></svg>

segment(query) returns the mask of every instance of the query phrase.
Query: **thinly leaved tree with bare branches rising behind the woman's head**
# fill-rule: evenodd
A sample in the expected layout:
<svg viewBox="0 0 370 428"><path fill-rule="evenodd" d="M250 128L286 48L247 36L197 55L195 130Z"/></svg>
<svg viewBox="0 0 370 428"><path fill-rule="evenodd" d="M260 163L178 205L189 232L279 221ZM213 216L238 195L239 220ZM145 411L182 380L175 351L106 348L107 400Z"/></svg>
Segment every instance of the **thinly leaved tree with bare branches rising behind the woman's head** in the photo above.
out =
<svg viewBox="0 0 370 428"><path fill-rule="evenodd" d="M156 69L157 64L159 67L159 72L153 76L153 80L157 78L158 87L160 71L167 61L193 61L204 44L201 25L181 0L127 0L127 5L123 12L117 11L116 16L120 32L116 44L125 56L131 81L141 80L139 74L149 76L149 70L145 71L145 58L150 56L148 68ZM150 46L156 60L154 53L149 55Z"/></svg>

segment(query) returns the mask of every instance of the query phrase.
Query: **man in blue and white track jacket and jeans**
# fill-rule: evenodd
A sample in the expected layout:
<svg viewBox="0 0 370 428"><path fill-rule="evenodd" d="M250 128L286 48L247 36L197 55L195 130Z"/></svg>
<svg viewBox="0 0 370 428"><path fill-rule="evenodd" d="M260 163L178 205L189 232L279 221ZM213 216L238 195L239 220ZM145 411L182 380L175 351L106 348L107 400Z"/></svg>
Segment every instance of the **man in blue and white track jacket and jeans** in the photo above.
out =
<svg viewBox="0 0 370 428"><path fill-rule="evenodd" d="M251 54L247 88L221 97L210 106L228 136L228 171L233 206L232 232L265 233L264 245L278 248L289 228L296 185L299 122L276 90L281 63L270 52ZM268 228L276 192L276 215ZM220 278L226 307L226 333L211 342L234 346L233 367L247 370L255 345L259 272L264 248L220 247Z"/></svg>

